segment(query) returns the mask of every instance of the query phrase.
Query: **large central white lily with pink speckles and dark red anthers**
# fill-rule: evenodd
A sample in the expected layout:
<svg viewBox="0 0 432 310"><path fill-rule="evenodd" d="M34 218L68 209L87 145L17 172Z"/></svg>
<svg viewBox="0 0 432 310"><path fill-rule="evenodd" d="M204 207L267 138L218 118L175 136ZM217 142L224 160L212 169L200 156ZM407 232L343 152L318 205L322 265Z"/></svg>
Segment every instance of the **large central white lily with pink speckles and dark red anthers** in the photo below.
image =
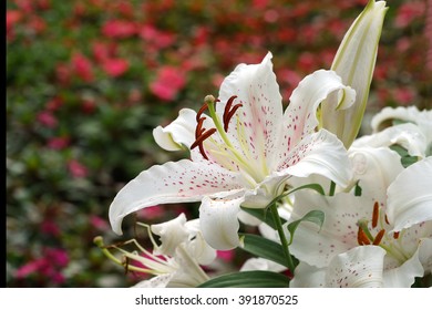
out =
<svg viewBox="0 0 432 310"><path fill-rule="evenodd" d="M338 92L352 104L354 91L335 72L319 70L300 82L284 113L271 54L259 64L239 64L218 100L207 96L198 113L182 110L173 124L156 128L162 147L187 147L192 161L153 166L131 180L110 206L113 230L121 234L122 219L141 208L202 202L205 239L232 249L239 245L240 205L265 208L291 176L318 174L347 186L351 175L342 143L325 130L315 132L318 105Z"/></svg>

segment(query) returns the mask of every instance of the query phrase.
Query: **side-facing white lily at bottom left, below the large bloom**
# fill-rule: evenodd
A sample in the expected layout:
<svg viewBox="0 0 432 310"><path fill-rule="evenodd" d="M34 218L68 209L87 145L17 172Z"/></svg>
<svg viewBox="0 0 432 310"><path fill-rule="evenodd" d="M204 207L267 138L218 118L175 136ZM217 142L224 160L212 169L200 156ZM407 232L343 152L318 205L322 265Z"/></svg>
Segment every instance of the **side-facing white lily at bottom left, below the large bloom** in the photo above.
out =
<svg viewBox="0 0 432 310"><path fill-rule="evenodd" d="M101 239L96 242L109 258L126 270L155 276L134 287L196 287L209 280L200 266L212 264L216 259L216 250L204 240L197 219L186 221L185 215L181 214L169 221L146 227L153 251L143 248L135 239L124 244L133 244L136 247L134 251L119 246L105 247ZM160 236L160 245L151 231ZM109 248L119 250L122 259L111 254Z"/></svg>

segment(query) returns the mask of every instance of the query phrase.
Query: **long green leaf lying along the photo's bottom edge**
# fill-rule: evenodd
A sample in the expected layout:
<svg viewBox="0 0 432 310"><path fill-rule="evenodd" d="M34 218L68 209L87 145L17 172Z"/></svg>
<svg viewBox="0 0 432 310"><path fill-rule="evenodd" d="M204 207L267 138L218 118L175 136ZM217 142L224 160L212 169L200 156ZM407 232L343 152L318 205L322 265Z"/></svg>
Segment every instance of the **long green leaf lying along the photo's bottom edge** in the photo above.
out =
<svg viewBox="0 0 432 310"><path fill-rule="evenodd" d="M243 271L223 275L198 288L288 288L289 278L271 271Z"/></svg>

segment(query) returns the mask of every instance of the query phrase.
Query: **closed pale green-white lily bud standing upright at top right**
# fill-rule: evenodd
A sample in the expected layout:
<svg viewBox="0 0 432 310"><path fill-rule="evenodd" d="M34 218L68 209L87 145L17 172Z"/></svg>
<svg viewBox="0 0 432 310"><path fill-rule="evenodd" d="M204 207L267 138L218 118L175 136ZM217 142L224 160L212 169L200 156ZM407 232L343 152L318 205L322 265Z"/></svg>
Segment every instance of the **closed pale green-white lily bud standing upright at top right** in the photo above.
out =
<svg viewBox="0 0 432 310"><path fill-rule="evenodd" d="M385 1L369 0L343 37L331 65L342 82L356 90L357 97L356 103L348 108L339 103L339 97L330 97L332 104L321 107L320 125L335 133L347 148L361 126L387 10Z"/></svg>

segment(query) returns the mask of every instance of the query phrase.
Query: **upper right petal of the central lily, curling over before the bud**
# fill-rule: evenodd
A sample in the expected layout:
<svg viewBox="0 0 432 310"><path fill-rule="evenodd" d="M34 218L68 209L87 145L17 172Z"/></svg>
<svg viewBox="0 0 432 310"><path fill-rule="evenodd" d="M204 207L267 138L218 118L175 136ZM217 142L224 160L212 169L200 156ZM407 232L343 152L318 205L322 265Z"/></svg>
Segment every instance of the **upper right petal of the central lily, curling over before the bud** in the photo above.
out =
<svg viewBox="0 0 432 310"><path fill-rule="evenodd" d="M305 135L309 135L318 125L318 105L331 93L344 92L344 106L354 102L356 92L342 84L333 71L318 70L306 76L294 90L289 105L285 111L285 136L282 149L292 149ZM284 158L284 156L281 156Z"/></svg>

